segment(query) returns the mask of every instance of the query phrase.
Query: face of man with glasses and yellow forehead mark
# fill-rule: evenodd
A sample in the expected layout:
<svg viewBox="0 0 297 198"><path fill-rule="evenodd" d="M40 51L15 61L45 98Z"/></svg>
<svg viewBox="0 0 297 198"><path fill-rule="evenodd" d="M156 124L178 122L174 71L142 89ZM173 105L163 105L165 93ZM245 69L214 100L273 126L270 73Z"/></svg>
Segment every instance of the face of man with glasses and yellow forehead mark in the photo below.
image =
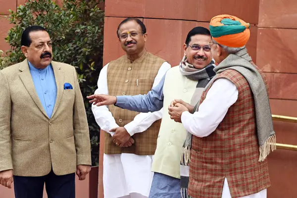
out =
<svg viewBox="0 0 297 198"><path fill-rule="evenodd" d="M138 54L145 48L147 33L142 34L141 26L134 20L122 24L118 36L122 49L128 54Z"/></svg>

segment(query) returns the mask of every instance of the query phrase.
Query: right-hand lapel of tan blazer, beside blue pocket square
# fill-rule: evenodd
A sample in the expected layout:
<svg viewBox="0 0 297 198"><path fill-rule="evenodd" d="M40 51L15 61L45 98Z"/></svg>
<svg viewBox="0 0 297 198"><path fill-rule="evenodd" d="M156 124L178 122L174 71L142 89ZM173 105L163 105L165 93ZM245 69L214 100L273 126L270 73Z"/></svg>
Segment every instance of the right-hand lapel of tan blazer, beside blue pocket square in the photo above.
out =
<svg viewBox="0 0 297 198"><path fill-rule="evenodd" d="M57 86L57 97L56 97L56 101L55 101L54 108L53 108L52 115L51 115L51 118L52 118L54 116L54 113L58 109L58 106L59 106L62 96L63 96L64 72L61 70L61 66L55 61L51 61L51 66L53 69L54 78L55 78L55 82L56 82L56 86Z"/></svg>

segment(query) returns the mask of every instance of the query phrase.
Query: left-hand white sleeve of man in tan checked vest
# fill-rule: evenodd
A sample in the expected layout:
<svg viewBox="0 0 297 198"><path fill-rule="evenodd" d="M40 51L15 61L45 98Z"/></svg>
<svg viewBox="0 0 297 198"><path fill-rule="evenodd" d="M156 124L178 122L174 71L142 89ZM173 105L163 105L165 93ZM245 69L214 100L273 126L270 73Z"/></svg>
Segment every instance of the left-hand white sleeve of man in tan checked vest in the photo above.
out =
<svg viewBox="0 0 297 198"><path fill-rule="evenodd" d="M107 88L107 68L108 64L105 65L99 74L98 79L98 89L95 91L95 94L105 94L108 95L108 88ZM95 116L97 124L100 128L111 136L113 136L114 132L109 132L110 129L119 127L116 124L115 119L113 118L111 112L109 111L106 105L103 106L96 106L92 105L92 111Z"/></svg>

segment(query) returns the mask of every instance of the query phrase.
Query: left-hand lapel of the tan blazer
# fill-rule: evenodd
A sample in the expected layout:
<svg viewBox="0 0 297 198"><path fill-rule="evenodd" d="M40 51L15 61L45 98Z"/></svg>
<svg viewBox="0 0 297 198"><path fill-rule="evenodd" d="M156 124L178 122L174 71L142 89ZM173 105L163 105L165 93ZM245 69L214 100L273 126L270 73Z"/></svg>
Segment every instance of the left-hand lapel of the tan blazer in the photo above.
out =
<svg viewBox="0 0 297 198"><path fill-rule="evenodd" d="M21 66L20 66L19 70L22 71L19 74L19 77L22 80L22 82L23 82L26 90L30 94L30 96L33 99L33 101L35 102L35 104L41 110L41 112L45 116L47 116L49 118L49 116L48 116L46 110L44 109L42 103L40 102L40 99L39 99L39 97L37 95L37 92L35 90L35 86L34 86L34 83L33 83L33 80L32 80L32 76L31 76L31 72L30 72L30 69L29 69L29 65L28 65L28 60L27 59L25 59L23 62L21 62Z"/></svg>

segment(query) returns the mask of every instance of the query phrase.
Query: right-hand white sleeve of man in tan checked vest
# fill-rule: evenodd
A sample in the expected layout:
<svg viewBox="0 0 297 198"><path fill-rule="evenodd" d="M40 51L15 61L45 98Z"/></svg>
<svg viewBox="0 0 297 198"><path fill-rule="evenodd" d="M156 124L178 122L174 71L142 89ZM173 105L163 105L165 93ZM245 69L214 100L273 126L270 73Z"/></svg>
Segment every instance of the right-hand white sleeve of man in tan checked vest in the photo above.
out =
<svg viewBox="0 0 297 198"><path fill-rule="evenodd" d="M170 64L168 62L164 62L158 70L158 73L154 79L152 87L158 85L162 77L166 74L167 70L170 69ZM133 136L136 133L144 132L150 127L150 125L158 119L162 118L163 108L159 111L148 112L148 113L140 113L135 116L134 120L130 123L126 124L124 127L128 131L128 133Z"/></svg>

